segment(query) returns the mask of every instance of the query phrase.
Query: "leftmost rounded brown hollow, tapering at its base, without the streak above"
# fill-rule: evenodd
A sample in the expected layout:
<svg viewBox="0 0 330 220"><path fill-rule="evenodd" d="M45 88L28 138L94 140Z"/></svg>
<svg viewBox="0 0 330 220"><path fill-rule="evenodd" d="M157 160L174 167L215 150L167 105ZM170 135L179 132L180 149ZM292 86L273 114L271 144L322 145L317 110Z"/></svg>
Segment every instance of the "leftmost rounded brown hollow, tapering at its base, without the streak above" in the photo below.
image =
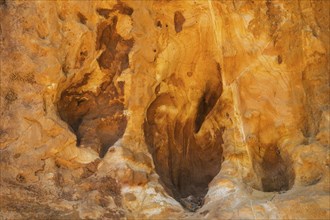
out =
<svg viewBox="0 0 330 220"><path fill-rule="evenodd" d="M61 93L58 112L76 134L77 146L91 147L102 158L125 132L124 104L114 97L122 93L123 85L109 85L99 93L79 88L79 83L72 84Z"/></svg>

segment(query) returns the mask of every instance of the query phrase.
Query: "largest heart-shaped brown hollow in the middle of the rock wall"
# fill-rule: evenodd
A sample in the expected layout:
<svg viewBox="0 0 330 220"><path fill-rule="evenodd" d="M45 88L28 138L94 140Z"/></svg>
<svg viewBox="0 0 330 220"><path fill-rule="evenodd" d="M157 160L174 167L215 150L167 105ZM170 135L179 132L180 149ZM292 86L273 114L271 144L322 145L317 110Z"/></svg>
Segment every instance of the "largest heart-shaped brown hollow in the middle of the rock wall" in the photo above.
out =
<svg viewBox="0 0 330 220"><path fill-rule="evenodd" d="M203 205L208 184L221 169L224 128L201 129L220 94L202 94L195 115L187 120L182 120L184 112L170 93L159 94L147 109L144 135L156 171L169 195L188 211ZM162 111L164 106L178 109L178 115Z"/></svg>

